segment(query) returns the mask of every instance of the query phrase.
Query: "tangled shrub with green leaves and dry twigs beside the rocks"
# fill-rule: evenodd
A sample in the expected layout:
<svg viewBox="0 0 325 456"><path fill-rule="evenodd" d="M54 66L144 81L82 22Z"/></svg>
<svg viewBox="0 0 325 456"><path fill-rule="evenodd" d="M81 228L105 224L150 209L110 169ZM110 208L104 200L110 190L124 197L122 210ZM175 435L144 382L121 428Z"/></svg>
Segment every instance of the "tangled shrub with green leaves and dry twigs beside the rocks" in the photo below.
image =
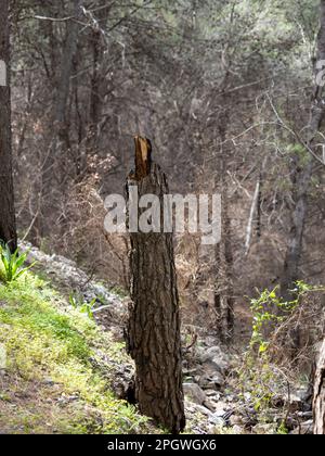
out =
<svg viewBox="0 0 325 456"><path fill-rule="evenodd" d="M304 382L310 373L312 349L320 335L317 331L313 333L311 324L316 316L320 322L322 320L320 303L315 297L317 292L324 293L324 289L301 281L296 286L296 297L289 302L278 295L277 287L272 291L264 290L251 300L252 332L239 372L243 397L249 397L249 405L259 414L260 421L268 421L272 416L272 406L282 404L284 422L280 432L286 425L289 407L286 397L289 398L290 391L301 382L303 371ZM297 332L298 345L295 339Z"/></svg>

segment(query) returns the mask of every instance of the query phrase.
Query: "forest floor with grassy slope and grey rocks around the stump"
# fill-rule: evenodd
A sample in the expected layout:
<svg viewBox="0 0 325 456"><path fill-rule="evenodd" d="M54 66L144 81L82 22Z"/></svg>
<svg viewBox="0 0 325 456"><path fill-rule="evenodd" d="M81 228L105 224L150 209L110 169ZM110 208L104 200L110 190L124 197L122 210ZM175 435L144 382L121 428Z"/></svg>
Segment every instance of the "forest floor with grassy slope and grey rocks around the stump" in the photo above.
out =
<svg viewBox="0 0 325 456"><path fill-rule="evenodd" d="M21 249L38 263L0 284L0 433L162 433L125 401L134 372L122 340L128 296L74 262ZM236 391L240 363L211 335L185 351L186 433L289 431L286 401L260 419L250 395ZM291 429L303 422L309 433L303 400L290 401Z"/></svg>

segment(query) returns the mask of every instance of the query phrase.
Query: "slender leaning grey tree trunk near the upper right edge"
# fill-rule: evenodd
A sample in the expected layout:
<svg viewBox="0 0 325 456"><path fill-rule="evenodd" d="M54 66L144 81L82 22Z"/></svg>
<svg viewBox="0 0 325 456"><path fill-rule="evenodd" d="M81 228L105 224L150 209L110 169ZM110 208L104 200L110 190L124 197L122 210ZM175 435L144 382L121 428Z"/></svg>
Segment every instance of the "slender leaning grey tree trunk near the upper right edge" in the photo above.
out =
<svg viewBox="0 0 325 456"><path fill-rule="evenodd" d="M325 60L325 0L321 0L321 29L317 39L317 60ZM321 128L325 114L325 105L323 102L323 87L316 87L312 101L311 118L309 124L309 136L307 144L313 148L315 137ZM309 152L307 152L309 153ZM302 254L302 241L308 212L308 194L310 190L310 181L314 168L314 160L310 155L308 163L299 168L295 175L295 210L292 213L292 224L288 249L284 262L284 270L282 277L282 295L291 299L290 290L295 288L295 282L299 279L299 262Z"/></svg>

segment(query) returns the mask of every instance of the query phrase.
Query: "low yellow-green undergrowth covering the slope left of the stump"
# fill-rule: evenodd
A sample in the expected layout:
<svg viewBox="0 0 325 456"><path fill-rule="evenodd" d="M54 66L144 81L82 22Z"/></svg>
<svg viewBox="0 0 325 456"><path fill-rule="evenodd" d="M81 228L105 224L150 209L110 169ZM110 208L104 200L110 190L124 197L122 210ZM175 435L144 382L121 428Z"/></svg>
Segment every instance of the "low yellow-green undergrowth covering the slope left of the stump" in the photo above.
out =
<svg viewBox="0 0 325 456"><path fill-rule="evenodd" d="M152 432L110 390L122 345L30 273L0 283L0 431Z"/></svg>

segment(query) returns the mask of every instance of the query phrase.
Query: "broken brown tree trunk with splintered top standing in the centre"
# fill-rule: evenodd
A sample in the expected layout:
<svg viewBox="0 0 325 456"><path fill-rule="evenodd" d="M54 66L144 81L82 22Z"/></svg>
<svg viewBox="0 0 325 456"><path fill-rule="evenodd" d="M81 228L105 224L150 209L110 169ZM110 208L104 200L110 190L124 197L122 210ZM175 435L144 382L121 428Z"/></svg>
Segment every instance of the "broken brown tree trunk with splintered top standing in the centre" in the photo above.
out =
<svg viewBox="0 0 325 456"><path fill-rule="evenodd" d="M129 228L134 187L139 199L159 198L164 226L168 185L159 166L152 163L151 152L151 142L135 137L135 172L128 179ZM135 362L135 400L141 413L179 433L185 426L179 294L172 233L161 231L130 232L132 304L127 339Z"/></svg>

